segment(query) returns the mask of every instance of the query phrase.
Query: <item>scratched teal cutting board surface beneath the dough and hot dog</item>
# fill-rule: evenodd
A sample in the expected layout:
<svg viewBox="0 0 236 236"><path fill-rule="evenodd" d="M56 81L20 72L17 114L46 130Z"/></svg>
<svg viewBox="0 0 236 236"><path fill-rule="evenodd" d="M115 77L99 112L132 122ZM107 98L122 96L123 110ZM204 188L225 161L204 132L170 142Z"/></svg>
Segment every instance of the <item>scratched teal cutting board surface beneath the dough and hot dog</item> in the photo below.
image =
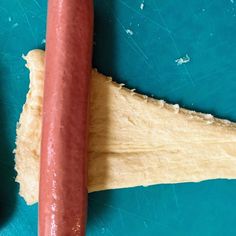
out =
<svg viewBox="0 0 236 236"><path fill-rule="evenodd" d="M45 24L45 0L1 0L1 236L37 234L38 206L18 195L12 151L29 83L21 55L45 47ZM236 1L96 0L93 64L139 92L236 121ZM231 236L235 222L234 180L89 194L90 236Z"/></svg>

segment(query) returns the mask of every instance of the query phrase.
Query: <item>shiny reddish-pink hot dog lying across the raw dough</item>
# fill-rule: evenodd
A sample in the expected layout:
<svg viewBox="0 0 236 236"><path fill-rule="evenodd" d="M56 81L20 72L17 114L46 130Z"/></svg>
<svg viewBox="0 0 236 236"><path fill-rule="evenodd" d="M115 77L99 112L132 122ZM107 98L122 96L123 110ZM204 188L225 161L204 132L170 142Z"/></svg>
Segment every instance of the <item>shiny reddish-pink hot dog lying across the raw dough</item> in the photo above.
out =
<svg viewBox="0 0 236 236"><path fill-rule="evenodd" d="M93 1L49 0L39 235L84 235Z"/></svg>

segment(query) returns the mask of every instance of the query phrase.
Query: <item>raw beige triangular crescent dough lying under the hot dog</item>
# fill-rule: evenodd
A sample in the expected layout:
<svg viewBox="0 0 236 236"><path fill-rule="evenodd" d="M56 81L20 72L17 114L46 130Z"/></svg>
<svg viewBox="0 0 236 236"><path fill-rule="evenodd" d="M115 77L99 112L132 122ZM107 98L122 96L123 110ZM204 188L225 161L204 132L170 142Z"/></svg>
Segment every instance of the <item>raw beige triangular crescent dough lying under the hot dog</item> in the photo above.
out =
<svg viewBox="0 0 236 236"><path fill-rule="evenodd" d="M44 51L25 57L30 90L17 129L16 181L38 200ZM92 72L89 192L236 178L236 125L135 93Z"/></svg>

